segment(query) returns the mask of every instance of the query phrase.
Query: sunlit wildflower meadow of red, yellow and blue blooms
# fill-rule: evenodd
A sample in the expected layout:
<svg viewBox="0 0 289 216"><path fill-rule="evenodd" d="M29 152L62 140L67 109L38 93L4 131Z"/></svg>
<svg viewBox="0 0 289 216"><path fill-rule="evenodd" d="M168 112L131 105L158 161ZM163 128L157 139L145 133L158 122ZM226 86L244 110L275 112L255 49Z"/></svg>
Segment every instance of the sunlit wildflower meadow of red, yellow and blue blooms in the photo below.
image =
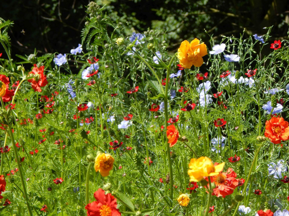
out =
<svg viewBox="0 0 289 216"><path fill-rule="evenodd" d="M288 216L289 41L172 52L86 11L70 52L17 59L0 18L0 215Z"/></svg>

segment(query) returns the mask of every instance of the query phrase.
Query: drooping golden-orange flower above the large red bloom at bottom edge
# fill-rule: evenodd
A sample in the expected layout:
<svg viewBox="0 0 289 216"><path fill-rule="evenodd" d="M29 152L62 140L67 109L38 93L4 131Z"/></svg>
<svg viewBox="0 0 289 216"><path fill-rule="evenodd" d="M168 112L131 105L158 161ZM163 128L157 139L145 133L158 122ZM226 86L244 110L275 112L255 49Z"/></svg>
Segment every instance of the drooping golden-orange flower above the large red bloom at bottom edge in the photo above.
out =
<svg viewBox="0 0 289 216"><path fill-rule="evenodd" d="M114 158L110 154L99 153L95 158L94 169L103 177L108 176L113 168L113 162Z"/></svg>

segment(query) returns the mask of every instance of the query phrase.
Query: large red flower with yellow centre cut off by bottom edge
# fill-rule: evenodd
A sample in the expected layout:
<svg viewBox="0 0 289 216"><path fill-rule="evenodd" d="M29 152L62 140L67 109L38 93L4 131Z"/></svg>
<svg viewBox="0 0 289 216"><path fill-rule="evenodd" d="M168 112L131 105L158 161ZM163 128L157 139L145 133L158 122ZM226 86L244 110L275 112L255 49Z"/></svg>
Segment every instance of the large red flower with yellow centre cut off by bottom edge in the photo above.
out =
<svg viewBox="0 0 289 216"><path fill-rule="evenodd" d="M101 188L94 192L96 201L85 206L87 216L121 216L117 209L117 199L112 194L105 194Z"/></svg>

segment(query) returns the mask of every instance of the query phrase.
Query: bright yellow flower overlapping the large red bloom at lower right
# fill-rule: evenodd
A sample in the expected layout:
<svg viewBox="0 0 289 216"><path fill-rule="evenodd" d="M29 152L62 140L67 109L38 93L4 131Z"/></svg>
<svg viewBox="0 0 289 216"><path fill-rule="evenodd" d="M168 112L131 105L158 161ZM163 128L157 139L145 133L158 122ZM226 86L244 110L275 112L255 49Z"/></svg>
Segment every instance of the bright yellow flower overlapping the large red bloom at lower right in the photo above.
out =
<svg viewBox="0 0 289 216"><path fill-rule="evenodd" d="M218 175L219 172L223 171L224 165L225 162L214 166L211 159L207 157L191 158L188 170L190 182L199 182L205 176Z"/></svg>

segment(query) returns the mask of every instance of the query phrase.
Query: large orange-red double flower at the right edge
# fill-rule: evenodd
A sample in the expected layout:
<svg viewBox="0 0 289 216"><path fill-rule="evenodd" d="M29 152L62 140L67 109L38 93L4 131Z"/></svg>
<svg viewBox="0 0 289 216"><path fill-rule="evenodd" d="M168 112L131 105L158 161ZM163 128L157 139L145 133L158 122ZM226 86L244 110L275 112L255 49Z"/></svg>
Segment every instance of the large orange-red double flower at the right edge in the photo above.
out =
<svg viewBox="0 0 289 216"><path fill-rule="evenodd" d="M265 137L268 137L274 144L280 144L281 140L288 140L288 124L288 121L285 121L282 117L272 117L272 119L266 121Z"/></svg>

